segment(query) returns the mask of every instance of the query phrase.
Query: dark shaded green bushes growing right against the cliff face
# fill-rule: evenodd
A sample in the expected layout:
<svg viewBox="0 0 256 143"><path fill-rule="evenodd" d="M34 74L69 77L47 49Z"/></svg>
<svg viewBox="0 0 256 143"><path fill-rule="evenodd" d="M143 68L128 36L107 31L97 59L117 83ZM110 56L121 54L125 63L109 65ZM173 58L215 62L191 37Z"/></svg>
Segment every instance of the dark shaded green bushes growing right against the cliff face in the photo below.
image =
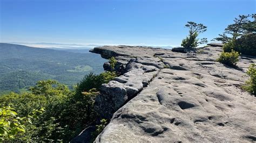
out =
<svg viewBox="0 0 256 143"><path fill-rule="evenodd" d="M75 90L64 100L52 106L46 106L50 112L45 114L39 126L41 128L39 140L44 138L54 140L70 141L79 134L87 125L96 120L94 110L94 100L99 94L100 85L107 83L116 77L114 72L106 71L95 75L90 73L85 75L79 82ZM57 102L56 102L57 103ZM49 118L54 119L45 125ZM49 130L51 132L49 133Z"/></svg>

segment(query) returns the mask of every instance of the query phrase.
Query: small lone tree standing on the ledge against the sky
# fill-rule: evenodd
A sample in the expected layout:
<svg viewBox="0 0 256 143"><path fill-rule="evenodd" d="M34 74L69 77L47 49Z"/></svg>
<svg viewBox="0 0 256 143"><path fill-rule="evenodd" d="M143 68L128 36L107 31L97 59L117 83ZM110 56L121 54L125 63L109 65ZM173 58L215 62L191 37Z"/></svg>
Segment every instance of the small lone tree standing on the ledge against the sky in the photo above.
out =
<svg viewBox="0 0 256 143"><path fill-rule="evenodd" d="M187 22L185 27L189 29L188 36L183 39L181 46L185 48L195 48L199 44L204 44L207 42L207 38L197 39L199 33L203 33L207 30L207 26L194 22Z"/></svg>

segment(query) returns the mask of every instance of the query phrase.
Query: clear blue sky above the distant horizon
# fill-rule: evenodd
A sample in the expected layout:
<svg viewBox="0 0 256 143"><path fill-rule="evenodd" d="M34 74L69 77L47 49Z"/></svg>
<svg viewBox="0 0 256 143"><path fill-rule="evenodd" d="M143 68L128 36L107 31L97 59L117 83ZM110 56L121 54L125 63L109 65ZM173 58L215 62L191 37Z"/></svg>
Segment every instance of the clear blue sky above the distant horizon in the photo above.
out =
<svg viewBox="0 0 256 143"><path fill-rule="evenodd" d="M187 21L211 40L255 0L0 0L1 42L179 46Z"/></svg>

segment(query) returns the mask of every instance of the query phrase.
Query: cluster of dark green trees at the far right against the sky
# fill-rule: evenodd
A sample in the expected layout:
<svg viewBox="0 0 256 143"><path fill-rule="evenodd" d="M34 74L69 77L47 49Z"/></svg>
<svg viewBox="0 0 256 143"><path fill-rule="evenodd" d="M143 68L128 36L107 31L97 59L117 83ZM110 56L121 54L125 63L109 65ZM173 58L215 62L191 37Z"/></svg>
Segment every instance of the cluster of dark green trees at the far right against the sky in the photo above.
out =
<svg viewBox="0 0 256 143"><path fill-rule="evenodd" d="M254 20L251 20L250 17ZM225 45L224 52L231 52L232 49L245 55L256 55L256 16L239 15L234 19L234 24L225 28L223 34L214 40L222 41Z"/></svg>

